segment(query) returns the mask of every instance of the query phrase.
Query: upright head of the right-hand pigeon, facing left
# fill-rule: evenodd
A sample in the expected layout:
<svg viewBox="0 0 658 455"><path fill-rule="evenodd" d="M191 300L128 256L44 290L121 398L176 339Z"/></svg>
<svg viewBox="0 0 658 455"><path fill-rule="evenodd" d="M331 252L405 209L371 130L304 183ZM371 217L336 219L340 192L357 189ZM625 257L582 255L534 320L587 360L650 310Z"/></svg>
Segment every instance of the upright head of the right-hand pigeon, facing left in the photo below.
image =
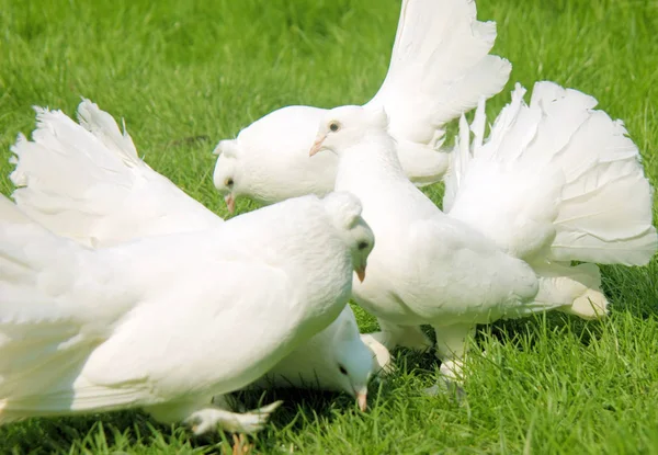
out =
<svg viewBox="0 0 658 455"><path fill-rule="evenodd" d="M358 144L368 130L386 130L388 116L384 109L341 106L327 112L320 122L309 156L321 150L339 150Z"/></svg>

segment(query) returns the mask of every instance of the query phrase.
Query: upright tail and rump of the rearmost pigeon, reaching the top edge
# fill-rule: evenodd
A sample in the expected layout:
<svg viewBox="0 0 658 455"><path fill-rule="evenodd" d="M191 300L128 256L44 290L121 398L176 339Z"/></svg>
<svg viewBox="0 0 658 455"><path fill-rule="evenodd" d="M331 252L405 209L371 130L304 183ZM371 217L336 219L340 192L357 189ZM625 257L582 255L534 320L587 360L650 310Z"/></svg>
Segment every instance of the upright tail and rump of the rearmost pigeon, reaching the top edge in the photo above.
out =
<svg viewBox="0 0 658 455"><path fill-rule="evenodd" d="M439 181L450 156L443 126L498 93L508 60L488 55L496 23L479 22L473 0L405 0L386 79L367 105L385 107L411 181Z"/></svg>

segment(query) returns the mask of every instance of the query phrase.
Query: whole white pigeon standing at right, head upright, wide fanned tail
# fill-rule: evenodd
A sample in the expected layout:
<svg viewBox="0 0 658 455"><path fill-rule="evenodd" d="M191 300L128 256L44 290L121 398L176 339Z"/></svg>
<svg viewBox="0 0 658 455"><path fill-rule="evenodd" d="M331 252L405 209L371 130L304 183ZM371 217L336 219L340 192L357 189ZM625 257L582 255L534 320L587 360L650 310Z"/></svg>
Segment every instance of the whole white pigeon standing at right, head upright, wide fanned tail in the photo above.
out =
<svg viewBox="0 0 658 455"><path fill-rule="evenodd" d="M431 325L449 379L477 323L547 309L602 317L594 263L640 265L656 252L651 187L622 122L552 82L535 84L530 106L524 93L518 86L486 143L481 101L473 149L462 117L447 214L405 177L381 111L330 111L310 151L338 155L336 189L362 201L375 232L368 277L353 286L384 322L375 337L393 349L404 340L389 327Z"/></svg>

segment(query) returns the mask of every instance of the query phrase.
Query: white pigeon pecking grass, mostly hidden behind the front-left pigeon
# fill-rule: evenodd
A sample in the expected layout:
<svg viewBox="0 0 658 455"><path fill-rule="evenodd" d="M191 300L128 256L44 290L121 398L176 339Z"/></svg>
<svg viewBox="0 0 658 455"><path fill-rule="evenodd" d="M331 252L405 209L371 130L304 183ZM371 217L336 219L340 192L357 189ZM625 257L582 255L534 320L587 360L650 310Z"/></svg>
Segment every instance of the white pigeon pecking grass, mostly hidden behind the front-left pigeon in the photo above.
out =
<svg viewBox="0 0 658 455"><path fill-rule="evenodd" d="M97 248L224 223L139 159L125 127L122 133L97 104L83 100L78 116L80 125L60 111L37 109L32 140L19 136L12 147L16 168L11 179L19 186L13 197L30 217L58 236ZM342 390L365 409L368 378L389 363L390 355L372 337L364 337L365 344L360 337L347 306L269 377L277 385Z"/></svg>

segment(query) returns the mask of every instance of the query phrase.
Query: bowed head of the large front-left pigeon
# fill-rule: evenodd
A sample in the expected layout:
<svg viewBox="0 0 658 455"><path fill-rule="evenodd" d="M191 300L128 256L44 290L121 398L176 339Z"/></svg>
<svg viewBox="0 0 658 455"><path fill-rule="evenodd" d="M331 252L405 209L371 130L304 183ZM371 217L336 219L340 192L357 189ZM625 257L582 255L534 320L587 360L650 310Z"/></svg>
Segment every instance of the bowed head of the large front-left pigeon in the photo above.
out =
<svg viewBox="0 0 658 455"><path fill-rule="evenodd" d="M361 282L365 280L367 257L375 247L375 235L361 217L361 201L351 193L329 193L325 207L334 227L350 248L354 272Z"/></svg>

